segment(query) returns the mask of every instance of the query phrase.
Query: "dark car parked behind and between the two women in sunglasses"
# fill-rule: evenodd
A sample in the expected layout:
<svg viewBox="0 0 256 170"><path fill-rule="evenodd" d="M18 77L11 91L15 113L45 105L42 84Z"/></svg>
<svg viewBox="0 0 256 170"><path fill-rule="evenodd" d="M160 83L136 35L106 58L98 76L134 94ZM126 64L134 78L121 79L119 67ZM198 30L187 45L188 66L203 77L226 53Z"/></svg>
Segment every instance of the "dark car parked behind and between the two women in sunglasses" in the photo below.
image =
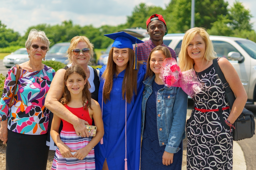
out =
<svg viewBox="0 0 256 170"><path fill-rule="evenodd" d="M66 52L70 46L69 42L65 43L56 43L54 44L45 55L46 60L59 61L64 64L68 64L68 57ZM92 65L95 65L96 54L94 52L94 57L91 58Z"/></svg>

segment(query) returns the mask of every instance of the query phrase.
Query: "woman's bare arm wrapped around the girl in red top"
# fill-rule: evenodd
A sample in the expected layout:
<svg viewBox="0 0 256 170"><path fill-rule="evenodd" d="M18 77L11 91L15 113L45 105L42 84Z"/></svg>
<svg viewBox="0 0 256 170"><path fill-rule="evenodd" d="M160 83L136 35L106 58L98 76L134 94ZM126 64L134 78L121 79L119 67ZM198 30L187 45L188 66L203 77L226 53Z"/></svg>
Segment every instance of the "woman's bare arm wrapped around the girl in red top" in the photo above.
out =
<svg viewBox="0 0 256 170"><path fill-rule="evenodd" d="M59 102L62 96L62 86L65 72L65 69L60 69L56 72L51 82L50 89L46 95L45 107L61 119L71 123L74 126L78 136L80 135L79 133L82 133L82 135L80 135L81 137L88 137L89 133L84 125L88 124L88 122L79 119Z"/></svg>

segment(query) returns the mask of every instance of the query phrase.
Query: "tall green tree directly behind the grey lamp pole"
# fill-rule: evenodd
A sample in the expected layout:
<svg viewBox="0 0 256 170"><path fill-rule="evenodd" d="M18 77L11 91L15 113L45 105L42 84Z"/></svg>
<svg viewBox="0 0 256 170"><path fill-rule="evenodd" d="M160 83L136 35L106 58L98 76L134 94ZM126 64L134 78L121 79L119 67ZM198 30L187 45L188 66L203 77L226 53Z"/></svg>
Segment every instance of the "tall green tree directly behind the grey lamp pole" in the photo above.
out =
<svg viewBox="0 0 256 170"><path fill-rule="evenodd" d="M227 14L228 3L224 0L204 0L195 2L195 26L211 28L218 15ZM190 28L191 0L172 0L166 7L167 25L173 33L184 32Z"/></svg>

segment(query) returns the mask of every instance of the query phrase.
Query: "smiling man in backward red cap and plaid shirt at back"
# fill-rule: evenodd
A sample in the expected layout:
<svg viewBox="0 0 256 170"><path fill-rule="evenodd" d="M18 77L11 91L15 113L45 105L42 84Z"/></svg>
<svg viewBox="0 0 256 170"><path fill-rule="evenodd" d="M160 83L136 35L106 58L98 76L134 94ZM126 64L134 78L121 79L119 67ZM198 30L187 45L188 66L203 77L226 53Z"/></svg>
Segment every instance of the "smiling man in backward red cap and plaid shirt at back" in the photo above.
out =
<svg viewBox="0 0 256 170"><path fill-rule="evenodd" d="M146 24L147 33L149 34L150 39L144 43L137 44L137 60L147 61L151 50L158 45L167 47L170 50L172 57L177 60L175 51L163 43L163 37L168 32L163 16L154 14L147 19Z"/></svg>

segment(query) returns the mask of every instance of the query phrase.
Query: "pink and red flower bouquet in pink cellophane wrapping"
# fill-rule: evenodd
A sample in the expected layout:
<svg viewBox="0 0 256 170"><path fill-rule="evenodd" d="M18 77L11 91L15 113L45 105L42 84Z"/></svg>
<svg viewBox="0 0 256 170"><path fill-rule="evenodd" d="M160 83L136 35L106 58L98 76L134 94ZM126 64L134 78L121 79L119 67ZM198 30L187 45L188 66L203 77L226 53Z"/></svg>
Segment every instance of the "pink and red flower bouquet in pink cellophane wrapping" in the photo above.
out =
<svg viewBox="0 0 256 170"><path fill-rule="evenodd" d="M191 98L201 91L203 85L198 81L194 69L181 72L174 58L164 59L159 77L165 86L181 87Z"/></svg>

